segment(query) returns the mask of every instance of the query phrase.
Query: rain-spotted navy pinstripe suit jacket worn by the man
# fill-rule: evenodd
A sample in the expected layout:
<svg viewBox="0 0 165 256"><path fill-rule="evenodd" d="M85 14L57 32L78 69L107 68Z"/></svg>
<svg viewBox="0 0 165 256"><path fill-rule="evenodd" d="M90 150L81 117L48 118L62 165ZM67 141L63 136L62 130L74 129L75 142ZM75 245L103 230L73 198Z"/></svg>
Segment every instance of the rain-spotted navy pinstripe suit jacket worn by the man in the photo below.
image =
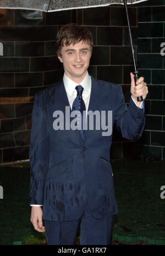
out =
<svg viewBox="0 0 165 256"><path fill-rule="evenodd" d="M137 140L145 125L144 109L130 99L125 104L122 87L91 77L88 111L112 111L112 127L123 138ZM69 106L63 80L35 95L30 146L30 204L43 204L44 220L76 220L86 202L96 219L118 213L109 151L112 135L87 129L53 129L53 112ZM70 109L70 112L72 110ZM71 118L72 120L72 118ZM106 119L107 121L107 119Z"/></svg>

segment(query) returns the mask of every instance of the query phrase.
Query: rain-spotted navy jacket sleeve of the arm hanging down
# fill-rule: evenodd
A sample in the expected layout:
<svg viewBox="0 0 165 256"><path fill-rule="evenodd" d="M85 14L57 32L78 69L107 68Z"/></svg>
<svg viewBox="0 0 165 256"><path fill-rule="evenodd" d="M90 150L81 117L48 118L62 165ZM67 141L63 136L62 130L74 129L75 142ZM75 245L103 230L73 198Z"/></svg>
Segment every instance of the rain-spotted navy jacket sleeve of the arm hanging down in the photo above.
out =
<svg viewBox="0 0 165 256"><path fill-rule="evenodd" d="M35 95L30 145L30 204L43 204L45 178L50 157L50 136L42 98Z"/></svg>

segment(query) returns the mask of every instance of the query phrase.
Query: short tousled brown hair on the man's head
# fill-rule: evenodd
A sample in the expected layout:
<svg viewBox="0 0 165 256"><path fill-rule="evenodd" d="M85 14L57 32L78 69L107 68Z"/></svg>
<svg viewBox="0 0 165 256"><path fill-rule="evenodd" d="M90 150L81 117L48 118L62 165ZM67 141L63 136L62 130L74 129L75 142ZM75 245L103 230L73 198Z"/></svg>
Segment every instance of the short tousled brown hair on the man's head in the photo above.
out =
<svg viewBox="0 0 165 256"><path fill-rule="evenodd" d="M73 23L61 26L56 37L56 51L57 56L61 56L61 48L69 46L73 43L75 45L79 42L89 43L91 51L93 50L94 40L91 31L84 26Z"/></svg>

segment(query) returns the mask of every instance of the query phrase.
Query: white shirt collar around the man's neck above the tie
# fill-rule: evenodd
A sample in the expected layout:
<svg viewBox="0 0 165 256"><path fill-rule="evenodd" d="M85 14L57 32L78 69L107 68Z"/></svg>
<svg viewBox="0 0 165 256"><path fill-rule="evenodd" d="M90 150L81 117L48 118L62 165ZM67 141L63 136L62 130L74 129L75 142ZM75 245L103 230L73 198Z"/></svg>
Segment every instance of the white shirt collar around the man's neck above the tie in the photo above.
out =
<svg viewBox="0 0 165 256"><path fill-rule="evenodd" d="M75 86L80 85L80 84L81 84L81 86L83 86L84 90L87 92L91 89L91 77L88 72L86 73L84 80L81 81L80 84L77 84L73 80L68 78L65 73L63 76L63 82L64 82L65 90L67 91L67 94L69 94L69 96L71 96L73 94Z"/></svg>

